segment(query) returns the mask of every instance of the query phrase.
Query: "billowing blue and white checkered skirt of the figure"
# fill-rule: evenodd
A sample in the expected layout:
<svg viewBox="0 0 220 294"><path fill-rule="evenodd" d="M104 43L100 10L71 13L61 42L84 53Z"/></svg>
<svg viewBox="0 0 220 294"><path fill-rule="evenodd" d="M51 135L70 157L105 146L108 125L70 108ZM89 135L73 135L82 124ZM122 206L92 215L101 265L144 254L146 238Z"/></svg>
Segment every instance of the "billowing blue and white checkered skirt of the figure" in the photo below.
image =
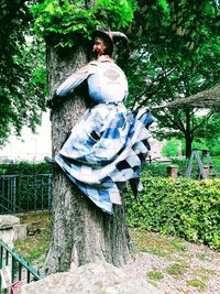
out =
<svg viewBox="0 0 220 294"><path fill-rule="evenodd" d="M134 194L150 150L153 122L148 110L127 110L100 104L86 110L55 156L67 176L103 211L112 215L121 204L120 187L128 181Z"/></svg>

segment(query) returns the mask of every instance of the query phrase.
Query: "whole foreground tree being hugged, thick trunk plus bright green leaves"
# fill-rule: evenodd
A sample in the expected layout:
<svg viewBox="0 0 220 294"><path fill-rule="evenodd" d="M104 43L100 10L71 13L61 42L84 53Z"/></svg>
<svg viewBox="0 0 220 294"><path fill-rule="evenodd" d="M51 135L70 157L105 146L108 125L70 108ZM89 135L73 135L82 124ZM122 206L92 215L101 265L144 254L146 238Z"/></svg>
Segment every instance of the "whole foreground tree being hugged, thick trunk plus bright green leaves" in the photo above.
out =
<svg viewBox="0 0 220 294"><path fill-rule="evenodd" d="M123 28L133 17L129 1L45 0L32 7L35 29L47 46L51 97L57 86L88 62L91 33L96 25ZM52 140L55 155L85 111L86 90L79 87L52 111ZM46 273L67 271L77 265L103 260L116 265L130 258L130 238L124 206L114 216L97 208L61 171L54 171L53 233L44 266Z"/></svg>

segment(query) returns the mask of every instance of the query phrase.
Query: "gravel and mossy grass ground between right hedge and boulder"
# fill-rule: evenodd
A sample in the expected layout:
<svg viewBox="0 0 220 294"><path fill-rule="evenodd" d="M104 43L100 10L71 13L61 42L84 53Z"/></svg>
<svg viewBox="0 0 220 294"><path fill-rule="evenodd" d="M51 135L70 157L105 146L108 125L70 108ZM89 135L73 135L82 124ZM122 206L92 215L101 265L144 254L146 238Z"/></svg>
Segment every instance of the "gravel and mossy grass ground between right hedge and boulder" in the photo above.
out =
<svg viewBox="0 0 220 294"><path fill-rule="evenodd" d="M160 294L220 294L217 251L158 233L131 230L131 236L142 252L124 270L145 277Z"/></svg>

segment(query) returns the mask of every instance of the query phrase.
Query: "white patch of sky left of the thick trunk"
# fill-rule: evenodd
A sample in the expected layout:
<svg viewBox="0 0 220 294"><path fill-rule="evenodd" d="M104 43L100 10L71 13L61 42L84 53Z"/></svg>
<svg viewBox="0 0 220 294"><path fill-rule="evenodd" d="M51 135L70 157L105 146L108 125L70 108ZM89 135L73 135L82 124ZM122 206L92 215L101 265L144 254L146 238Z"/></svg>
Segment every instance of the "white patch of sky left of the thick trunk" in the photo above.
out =
<svg viewBox="0 0 220 294"><path fill-rule="evenodd" d="M4 159L18 161L41 162L52 154L50 111L43 112L42 124L33 133L24 127L20 138L11 135L9 143L0 149L0 161Z"/></svg>

